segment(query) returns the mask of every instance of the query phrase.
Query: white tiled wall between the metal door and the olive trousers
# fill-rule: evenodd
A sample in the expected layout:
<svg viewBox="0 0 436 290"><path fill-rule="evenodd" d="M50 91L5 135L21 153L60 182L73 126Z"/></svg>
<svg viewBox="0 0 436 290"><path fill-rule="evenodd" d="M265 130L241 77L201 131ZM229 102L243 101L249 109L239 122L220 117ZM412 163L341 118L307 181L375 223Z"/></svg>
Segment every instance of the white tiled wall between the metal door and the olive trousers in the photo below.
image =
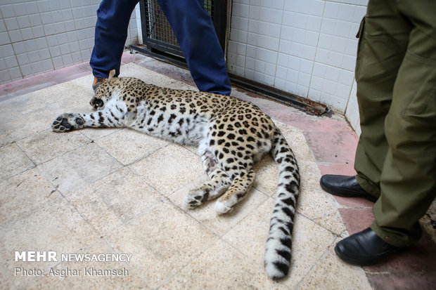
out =
<svg viewBox="0 0 436 290"><path fill-rule="evenodd" d="M359 127L354 65L367 0L233 0L229 72L316 100Z"/></svg>

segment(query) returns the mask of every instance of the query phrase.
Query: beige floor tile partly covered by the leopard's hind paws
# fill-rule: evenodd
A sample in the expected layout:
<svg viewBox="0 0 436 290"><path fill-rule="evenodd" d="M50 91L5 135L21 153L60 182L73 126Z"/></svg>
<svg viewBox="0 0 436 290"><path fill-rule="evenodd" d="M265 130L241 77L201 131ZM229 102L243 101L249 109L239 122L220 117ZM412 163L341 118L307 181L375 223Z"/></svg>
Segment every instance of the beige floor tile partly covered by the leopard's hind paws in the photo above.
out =
<svg viewBox="0 0 436 290"><path fill-rule="evenodd" d="M181 209L184 209L184 211L195 218L195 220L198 220L200 223L205 225L206 228L219 236L224 235L231 228L241 222L243 218L252 214L253 211L257 211L257 207L268 198L262 192L259 192L259 190L252 188L248 190L247 197L237 204L230 213L217 215L214 211L214 200L207 202L197 209L186 209L183 204L183 199L186 193L194 187L201 185L206 180L206 175L201 176L195 180L194 183L190 183L180 190L177 190L177 192L174 192L174 195L171 195L169 199Z"/></svg>

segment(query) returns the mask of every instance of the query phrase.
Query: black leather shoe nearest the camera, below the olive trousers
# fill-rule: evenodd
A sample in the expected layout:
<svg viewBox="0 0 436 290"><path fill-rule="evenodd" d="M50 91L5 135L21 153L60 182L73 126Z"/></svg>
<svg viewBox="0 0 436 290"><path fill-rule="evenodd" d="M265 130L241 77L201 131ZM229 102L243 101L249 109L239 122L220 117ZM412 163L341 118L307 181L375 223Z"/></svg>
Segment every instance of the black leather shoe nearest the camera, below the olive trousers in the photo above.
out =
<svg viewBox="0 0 436 290"><path fill-rule="evenodd" d="M342 239L335 246L336 255L352 265L374 265L401 248L387 244L376 232L367 228Z"/></svg>

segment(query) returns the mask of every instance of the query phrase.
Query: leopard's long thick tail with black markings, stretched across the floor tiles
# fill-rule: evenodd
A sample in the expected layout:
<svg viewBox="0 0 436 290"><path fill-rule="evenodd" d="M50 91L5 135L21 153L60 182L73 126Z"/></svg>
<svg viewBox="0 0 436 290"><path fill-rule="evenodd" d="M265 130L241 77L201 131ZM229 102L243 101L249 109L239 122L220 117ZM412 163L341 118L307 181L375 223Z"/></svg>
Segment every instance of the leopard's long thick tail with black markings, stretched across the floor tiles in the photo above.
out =
<svg viewBox="0 0 436 290"><path fill-rule="evenodd" d="M271 279L280 279L288 274L290 267L300 173L294 154L278 128L274 131L271 155L278 164L279 178L265 251L265 270Z"/></svg>

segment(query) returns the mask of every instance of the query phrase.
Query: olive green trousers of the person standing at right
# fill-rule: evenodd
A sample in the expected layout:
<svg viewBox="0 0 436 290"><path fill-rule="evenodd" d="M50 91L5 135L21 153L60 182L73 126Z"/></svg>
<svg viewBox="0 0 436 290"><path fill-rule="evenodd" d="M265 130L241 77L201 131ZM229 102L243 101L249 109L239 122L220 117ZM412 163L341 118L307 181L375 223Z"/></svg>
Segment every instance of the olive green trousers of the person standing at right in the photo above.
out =
<svg viewBox="0 0 436 290"><path fill-rule="evenodd" d="M354 168L379 197L371 229L388 244L409 246L436 195L436 0L369 0L356 81Z"/></svg>

